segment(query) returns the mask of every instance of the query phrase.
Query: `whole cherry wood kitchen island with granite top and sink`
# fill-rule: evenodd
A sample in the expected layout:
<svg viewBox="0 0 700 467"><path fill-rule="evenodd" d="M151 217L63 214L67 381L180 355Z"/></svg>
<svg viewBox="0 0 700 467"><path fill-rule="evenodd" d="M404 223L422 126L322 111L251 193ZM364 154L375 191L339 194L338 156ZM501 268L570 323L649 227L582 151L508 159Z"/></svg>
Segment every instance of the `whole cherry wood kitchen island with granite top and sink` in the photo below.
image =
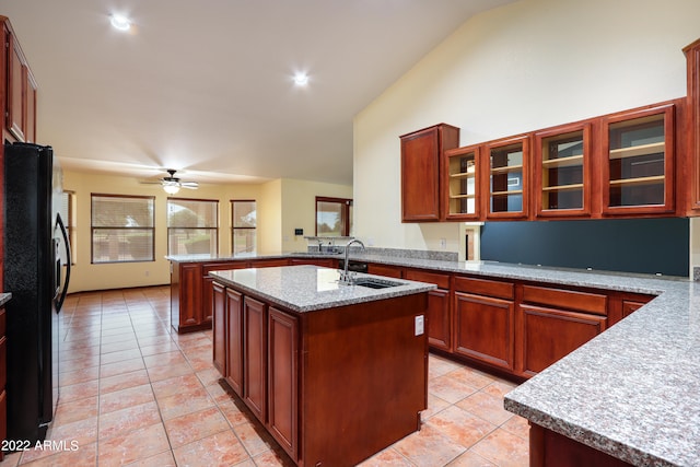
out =
<svg viewBox="0 0 700 467"><path fill-rule="evenodd" d="M420 429L435 285L317 266L210 276L214 365L296 465L357 465Z"/></svg>

